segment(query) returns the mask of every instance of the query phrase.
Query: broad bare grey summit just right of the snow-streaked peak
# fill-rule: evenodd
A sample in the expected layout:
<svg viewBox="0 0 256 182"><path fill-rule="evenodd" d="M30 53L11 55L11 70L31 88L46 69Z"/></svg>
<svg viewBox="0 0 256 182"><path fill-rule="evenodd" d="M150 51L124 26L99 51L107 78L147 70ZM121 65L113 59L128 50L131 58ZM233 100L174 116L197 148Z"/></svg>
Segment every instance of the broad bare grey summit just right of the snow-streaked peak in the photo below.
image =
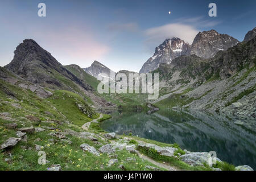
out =
<svg viewBox="0 0 256 182"><path fill-rule="evenodd" d="M228 48L240 43L237 39L227 34L219 34L215 30L199 32L196 35L187 55L197 55L208 59L216 55L218 51L226 51Z"/></svg>

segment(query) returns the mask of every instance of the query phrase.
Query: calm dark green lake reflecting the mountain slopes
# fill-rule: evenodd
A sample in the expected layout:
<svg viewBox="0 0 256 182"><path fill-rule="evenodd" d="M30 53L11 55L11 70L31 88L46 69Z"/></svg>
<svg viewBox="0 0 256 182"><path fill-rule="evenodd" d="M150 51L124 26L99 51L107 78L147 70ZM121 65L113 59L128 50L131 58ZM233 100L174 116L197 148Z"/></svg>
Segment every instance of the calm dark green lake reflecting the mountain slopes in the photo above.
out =
<svg viewBox="0 0 256 182"><path fill-rule="evenodd" d="M255 132L217 114L199 111L159 110L156 113L113 111L102 129L164 143L178 143L189 151L216 151L217 157L235 166L256 169ZM255 121L254 121L255 122Z"/></svg>

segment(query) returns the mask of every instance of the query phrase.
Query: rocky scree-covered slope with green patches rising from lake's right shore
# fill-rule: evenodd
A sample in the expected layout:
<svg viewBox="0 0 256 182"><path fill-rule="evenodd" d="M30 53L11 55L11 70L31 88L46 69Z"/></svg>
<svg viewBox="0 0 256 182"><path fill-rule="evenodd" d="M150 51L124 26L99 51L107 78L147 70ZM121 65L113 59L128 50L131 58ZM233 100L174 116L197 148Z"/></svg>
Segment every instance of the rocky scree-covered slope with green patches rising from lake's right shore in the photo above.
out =
<svg viewBox="0 0 256 182"><path fill-rule="evenodd" d="M243 125L255 126L256 37L238 43L214 57L202 59L182 55L171 64L160 64L159 107L181 106L210 110L242 119ZM176 100L174 102L174 100Z"/></svg>

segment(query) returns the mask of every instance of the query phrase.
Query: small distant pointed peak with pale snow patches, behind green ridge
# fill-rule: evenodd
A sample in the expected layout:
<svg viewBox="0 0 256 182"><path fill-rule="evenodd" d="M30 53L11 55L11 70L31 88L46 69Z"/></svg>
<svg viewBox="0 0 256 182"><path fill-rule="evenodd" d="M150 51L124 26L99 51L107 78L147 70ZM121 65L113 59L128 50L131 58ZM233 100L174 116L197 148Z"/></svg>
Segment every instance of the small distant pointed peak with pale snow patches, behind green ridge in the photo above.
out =
<svg viewBox="0 0 256 182"><path fill-rule="evenodd" d="M83 69L86 73L88 73L89 75L92 75L96 78L98 77L98 75L101 75L101 76L107 75L108 77L110 77L110 72L113 72L111 69L109 69L108 67L101 64L98 61L94 61L92 63L92 65L90 65L90 67L83 68Z"/></svg>

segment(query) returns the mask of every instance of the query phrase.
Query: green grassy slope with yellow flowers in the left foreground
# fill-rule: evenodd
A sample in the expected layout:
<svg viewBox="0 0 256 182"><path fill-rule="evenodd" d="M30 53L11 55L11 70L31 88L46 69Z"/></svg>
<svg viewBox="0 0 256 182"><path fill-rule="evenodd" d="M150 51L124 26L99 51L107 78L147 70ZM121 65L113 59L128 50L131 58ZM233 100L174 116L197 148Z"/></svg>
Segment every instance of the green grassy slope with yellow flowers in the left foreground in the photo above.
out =
<svg viewBox="0 0 256 182"><path fill-rule="evenodd" d="M0 90L1 107L0 112L9 112L11 117L17 119L15 122L18 127L57 127L57 130L72 129L77 132L82 131L82 123L91 121L86 115L82 114L80 110L74 104L75 101L83 102L82 98L74 93L56 90L54 95L47 100L42 100L34 95L34 93L29 90L23 90L17 88L16 86L6 84L2 80L0 83L12 90L15 97L23 102L16 101L9 98ZM53 99L53 97L55 97ZM11 106L12 103L17 103L22 106L22 109L14 109ZM54 109L54 107L56 109ZM44 111L49 111L52 115L44 113ZM42 121L47 121L47 119L55 119L58 122L45 123L45 122L31 122L25 117L26 115L34 115L40 118ZM63 117L65 115L65 117ZM20 118L22 117L22 118ZM93 118L97 118L98 114L93 115ZM108 118L108 115L104 115L104 118ZM71 124L67 124L64 121L69 121ZM0 118L0 143L2 144L6 139L10 137L15 137L15 129L7 129L6 123L13 123L5 119ZM82 139L67 135L69 139L73 142L68 144L61 142L59 139L52 137L49 133L57 132L46 130L39 133L27 134L28 141L19 142L9 151L1 151L0 153L0 170L46 170L51 164L60 164L63 170L121 170L118 165L123 164L128 170L144 170L147 165L154 166L149 162L145 162L140 159L137 155L130 154L126 150L117 151L118 164L114 164L112 167L108 167L108 161L112 159L109 155L103 154L100 156L94 156L88 152L83 152L79 146L82 143L88 143L90 146L94 146L96 149L100 148L100 144L93 143L89 139ZM54 139L51 142L49 139ZM109 143L108 140L102 140L98 138L98 141L102 144ZM50 163L46 165L38 164L38 151L35 150L35 144L44 146L42 150L46 152L46 159ZM24 150L21 146L26 146L27 149ZM11 152L11 157L9 155ZM125 162L126 158L133 157L136 162L130 161ZM9 159L9 161L5 161Z"/></svg>

